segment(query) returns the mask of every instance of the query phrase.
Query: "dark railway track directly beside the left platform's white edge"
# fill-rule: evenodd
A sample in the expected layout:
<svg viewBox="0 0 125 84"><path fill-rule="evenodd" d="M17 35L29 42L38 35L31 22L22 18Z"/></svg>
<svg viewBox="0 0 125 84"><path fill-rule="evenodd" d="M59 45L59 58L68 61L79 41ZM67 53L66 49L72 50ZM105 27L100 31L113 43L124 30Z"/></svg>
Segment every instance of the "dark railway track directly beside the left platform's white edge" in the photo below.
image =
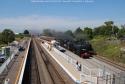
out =
<svg viewBox="0 0 125 84"><path fill-rule="evenodd" d="M33 42L31 42L30 45L22 84L40 84L40 76Z"/></svg>

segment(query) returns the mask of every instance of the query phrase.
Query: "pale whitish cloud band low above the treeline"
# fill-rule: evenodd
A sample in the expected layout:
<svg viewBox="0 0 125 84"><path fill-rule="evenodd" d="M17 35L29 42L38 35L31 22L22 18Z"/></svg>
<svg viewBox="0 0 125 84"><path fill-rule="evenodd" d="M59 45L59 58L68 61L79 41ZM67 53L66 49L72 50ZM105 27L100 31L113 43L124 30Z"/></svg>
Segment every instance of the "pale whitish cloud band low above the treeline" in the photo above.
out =
<svg viewBox="0 0 125 84"><path fill-rule="evenodd" d="M24 29L42 31L45 28L55 30L74 30L77 27L94 27L103 24L104 20L84 20L74 17L57 17L57 16L20 16L11 18L0 18L0 29L12 28L15 31Z"/></svg>

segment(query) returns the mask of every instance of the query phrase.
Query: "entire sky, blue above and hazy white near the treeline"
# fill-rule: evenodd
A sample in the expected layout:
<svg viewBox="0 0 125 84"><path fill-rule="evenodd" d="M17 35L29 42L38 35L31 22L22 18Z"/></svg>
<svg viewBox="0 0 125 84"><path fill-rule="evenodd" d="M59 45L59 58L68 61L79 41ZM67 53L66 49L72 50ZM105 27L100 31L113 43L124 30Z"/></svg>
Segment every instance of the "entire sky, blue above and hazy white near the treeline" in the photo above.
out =
<svg viewBox="0 0 125 84"><path fill-rule="evenodd" d="M67 1L67 2L66 2ZM0 31L66 31L125 24L125 0L0 0Z"/></svg>

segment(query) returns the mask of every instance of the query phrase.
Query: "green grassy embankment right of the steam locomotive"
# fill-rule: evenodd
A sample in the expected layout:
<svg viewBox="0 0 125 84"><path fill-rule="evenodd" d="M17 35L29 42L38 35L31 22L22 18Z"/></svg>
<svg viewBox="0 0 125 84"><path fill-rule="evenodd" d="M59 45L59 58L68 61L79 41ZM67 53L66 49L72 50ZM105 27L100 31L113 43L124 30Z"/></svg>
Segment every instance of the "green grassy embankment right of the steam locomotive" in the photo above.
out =
<svg viewBox="0 0 125 84"><path fill-rule="evenodd" d="M125 58L121 56L121 44L115 43L115 41L118 40L107 40L108 38L109 37L96 36L90 42L98 55L106 57L112 61L125 63Z"/></svg>

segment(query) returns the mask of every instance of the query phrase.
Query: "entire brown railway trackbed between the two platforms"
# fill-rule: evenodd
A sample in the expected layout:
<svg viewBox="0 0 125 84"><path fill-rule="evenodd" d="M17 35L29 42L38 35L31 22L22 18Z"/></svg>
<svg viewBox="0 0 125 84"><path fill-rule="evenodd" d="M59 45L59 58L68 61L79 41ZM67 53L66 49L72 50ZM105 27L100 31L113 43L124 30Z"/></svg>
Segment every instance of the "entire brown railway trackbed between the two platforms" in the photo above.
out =
<svg viewBox="0 0 125 84"><path fill-rule="evenodd" d="M31 41L22 84L66 84L35 38Z"/></svg>

